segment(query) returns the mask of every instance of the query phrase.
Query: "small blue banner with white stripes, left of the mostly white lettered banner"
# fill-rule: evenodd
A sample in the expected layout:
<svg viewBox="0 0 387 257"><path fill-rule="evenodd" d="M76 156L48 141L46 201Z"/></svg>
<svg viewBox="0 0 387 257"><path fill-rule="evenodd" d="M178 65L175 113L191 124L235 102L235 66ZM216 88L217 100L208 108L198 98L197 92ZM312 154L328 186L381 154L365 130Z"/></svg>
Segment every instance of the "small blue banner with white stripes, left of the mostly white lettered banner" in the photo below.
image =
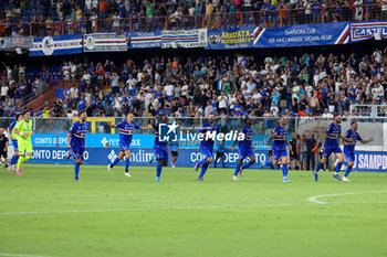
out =
<svg viewBox="0 0 387 257"><path fill-rule="evenodd" d="M161 47L161 31L132 32L128 35L130 49L154 49Z"/></svg>

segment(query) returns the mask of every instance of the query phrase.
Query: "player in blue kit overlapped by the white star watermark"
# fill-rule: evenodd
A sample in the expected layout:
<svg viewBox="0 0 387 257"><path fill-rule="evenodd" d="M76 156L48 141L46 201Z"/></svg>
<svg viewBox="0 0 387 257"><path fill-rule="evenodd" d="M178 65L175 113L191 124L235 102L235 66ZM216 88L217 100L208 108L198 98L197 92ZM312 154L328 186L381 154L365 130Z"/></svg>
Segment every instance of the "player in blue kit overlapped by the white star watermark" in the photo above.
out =
<svg viewBox="0 0 387 257"><path fill-rule="evenodd" d="M168 117L166 115L161 115L160 117L160 122L161 124L167 124L168 122ZM156 167L156 182L161 182L161 170L163 167L168 165L168 141L160 141L159 139L159 127L160 124L157 121L154 124L154 129L156 130L155 132L155 156L157 160L157 167Z"/></svg>

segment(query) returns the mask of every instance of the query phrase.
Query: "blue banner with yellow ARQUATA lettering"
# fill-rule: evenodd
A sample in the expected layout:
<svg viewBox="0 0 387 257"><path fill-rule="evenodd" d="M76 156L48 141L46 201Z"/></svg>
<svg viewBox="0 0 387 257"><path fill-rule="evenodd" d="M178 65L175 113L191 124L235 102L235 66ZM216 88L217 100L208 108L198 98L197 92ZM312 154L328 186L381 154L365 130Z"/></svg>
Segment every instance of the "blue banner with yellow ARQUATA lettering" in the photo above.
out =
<svg viewBox="0 0 387 257"><path fill-rule="evenodd" d="M209 30L209 50L245 49L253 47L254 40L263 33L264 29L258 26L243 26L229 30Z"/></svg>

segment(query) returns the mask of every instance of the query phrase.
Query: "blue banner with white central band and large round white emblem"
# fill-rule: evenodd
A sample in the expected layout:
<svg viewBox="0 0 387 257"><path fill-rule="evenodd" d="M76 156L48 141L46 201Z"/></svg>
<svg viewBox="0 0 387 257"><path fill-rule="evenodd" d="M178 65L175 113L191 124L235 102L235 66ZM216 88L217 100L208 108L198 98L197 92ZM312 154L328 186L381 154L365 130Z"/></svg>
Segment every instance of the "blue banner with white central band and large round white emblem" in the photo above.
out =
<svg viewBox="0 0 387 257"><path fill-rule="evenodd" d="M82 34L34 38L30 56L79 54L82 53Z"/></svg>

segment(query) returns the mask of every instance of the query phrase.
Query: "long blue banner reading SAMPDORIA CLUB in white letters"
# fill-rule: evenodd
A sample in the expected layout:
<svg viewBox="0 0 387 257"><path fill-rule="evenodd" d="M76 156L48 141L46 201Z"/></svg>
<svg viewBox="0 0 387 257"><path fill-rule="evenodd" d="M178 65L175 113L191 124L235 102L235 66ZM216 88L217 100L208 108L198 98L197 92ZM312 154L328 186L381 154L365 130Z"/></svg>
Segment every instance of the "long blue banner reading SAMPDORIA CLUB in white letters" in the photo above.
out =
<svg viewBox="0 0 387 257"><path fill-rule="evenodd" d="M264 29L254 39L254 47L292 47L349 43L349 23L291 25Z"/></svg>

